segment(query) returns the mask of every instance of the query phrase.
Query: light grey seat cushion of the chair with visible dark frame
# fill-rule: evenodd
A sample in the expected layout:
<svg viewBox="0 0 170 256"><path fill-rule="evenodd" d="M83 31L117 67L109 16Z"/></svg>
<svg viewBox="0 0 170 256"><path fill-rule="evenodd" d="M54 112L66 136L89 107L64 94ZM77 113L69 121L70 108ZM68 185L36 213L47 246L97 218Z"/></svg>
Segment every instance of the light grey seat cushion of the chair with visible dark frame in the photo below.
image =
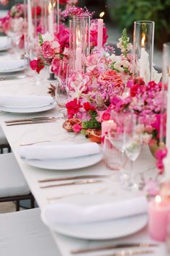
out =
<svg viewBox="0 0 170 256"><path fill-rule="evenodd" d="M13 153L0 155L0 197L27 195L30 188Z"/></svg>

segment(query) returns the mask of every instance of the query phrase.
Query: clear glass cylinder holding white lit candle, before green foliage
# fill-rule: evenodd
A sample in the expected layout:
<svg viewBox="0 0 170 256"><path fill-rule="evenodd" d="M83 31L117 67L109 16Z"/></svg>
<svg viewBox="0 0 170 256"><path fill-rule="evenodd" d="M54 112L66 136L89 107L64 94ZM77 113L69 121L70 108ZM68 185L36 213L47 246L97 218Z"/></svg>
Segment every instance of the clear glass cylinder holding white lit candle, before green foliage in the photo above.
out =
<svg viewBox="0 0 170 256"><path fill-rule="evenodd" d="M133 77L152 80L155 23L148 20L134 22L133 31Z"/></svg>

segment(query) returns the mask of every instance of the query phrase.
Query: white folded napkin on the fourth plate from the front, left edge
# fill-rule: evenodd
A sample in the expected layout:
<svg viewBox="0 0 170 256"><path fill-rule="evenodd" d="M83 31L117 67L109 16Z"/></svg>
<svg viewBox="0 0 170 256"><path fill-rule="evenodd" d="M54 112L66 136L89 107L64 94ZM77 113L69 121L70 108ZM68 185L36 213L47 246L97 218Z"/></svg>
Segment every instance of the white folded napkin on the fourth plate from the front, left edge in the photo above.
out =
<svg viewBox="0 0 170 256"><path fill-rule="evenodd" d="M0 60L0 72L11 71L15 69L22 68L26 65L24 59L10 59L10 60Z"/></svg>

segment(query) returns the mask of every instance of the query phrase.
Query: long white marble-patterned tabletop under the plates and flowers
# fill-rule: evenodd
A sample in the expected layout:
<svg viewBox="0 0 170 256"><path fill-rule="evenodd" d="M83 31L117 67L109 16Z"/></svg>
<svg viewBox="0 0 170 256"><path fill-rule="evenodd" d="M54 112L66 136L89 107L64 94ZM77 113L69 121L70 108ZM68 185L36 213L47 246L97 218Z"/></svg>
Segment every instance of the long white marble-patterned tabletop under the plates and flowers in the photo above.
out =
<svg viewBox="0 0 170 256"><path fill-rule="evenodd" d="M14 79L14 80L4 80L0 81L0 95L47 95L49 81L44 79L43 82L36 86L32 83L33 78L24 77L23 79ZM84 175L84 174L112 174L112 171L109 171L104 166L103 161L95 164L94 166L80 168L76 170L68 171L53 171L49 169L36 168L33 166L24 163L19 156L19 146L21 144L27 144L32 142L40 141L50 141L50 142L86 142L84 135L75 135L69 133L63 129L63 119L58 119L53 123L43 123L43 124L27 124L27 125L16 125L7 127L5 121L12 119L24 119L29 117L36 116L62 116L58 107L40 112L36 114L14 114L5 111L0 111L0 125L6 135L9 145L12 148L17 162L24 174L27 183L30 186L30 190L37 201L37 205L40 207L40 210L44 210L45 207L51 203L49 201L50 197L61 197L57 202L71 202L73 197L81 197L81 200L86 200L91 194L99 194L99 197L102 197L102 193L108 196L108 200L113 200L114 197L118 195L127 195L128 192L120 186L120 183L114 179L106 179L102 184L85 184L85 185L72 185L65 187L50 187L47 189L40 188L40 179L53 179L57 177L64 176L73 176L73 175ZM145 171L146 176L156 176L157 172L155 167L155 160L152 157L148 148L144 148L138 161L135 163L135 168L138 172ZM1 166L2 168L2 166ZM87 195L86 195L86 192ZM70 196L69 196L70 195ZM120 229L125 229L125 226L120 225ZM111 239L104 241L89 240L89 239L79 239L73 236L66 236L65 234L59 234L54 231L51 231L53 239L60 249L61 255L71 256L71 249L87 248L93 247L94 245L101 244L110 244L110 242L152 242L153 240L149 237L148 228L144 228L138 231L135 234L126 236L120 239ZM157 242L154 242L157 243ZM153 249L153 248L151 248ZM153 249L153 253L148 255L155 256L166 256L169 255L166 251L166 245L164 243L158 243L158 247ZM110 255L112 251L109 252L97 252L97 253L88 253L84 254L92 255ZM146 254L143 254L146 255Z"/></svg>

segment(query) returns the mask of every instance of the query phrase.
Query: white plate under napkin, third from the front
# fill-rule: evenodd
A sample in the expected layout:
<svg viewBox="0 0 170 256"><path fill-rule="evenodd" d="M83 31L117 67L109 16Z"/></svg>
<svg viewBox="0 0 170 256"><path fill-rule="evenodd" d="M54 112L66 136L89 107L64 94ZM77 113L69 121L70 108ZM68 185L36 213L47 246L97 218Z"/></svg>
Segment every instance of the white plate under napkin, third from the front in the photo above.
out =
<svg viewBox="0 0 170 256"><path fill-rule="evenodd" d="M56 106L56 103L52 103L48 106L43 106L39 108L5 108L4 106L0 106L0 111L6 111L10 113L37 113L42 111L47 111Z"/></svg>

